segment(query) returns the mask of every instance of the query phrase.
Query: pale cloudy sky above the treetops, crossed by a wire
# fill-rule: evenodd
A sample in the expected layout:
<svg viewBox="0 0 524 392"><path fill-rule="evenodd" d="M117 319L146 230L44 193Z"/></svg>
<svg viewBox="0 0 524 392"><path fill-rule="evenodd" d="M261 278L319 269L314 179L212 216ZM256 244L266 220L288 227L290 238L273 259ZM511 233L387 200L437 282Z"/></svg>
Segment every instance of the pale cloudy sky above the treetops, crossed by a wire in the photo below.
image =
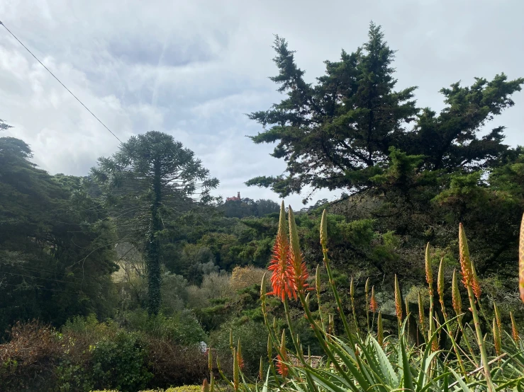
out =
<svg viewBox="0 0 524 392"><path fill-rule="evenodd" d="M440 88L474 76L524 76L524 1L62 1L2 0L0 21L119 139L166 132L193 150L221 181L216 195L272 199L247 188L257 175L278 175L274 146L247 138L261 126L246 113L284 98L268 76L274 34L296 50L314 82L323 61L367 40L382 26L396 53L397 88L418 86L418 106L441 110ZM524 92L489 123L505 125L506 144L524 144ZM51 174L87 175L116 140L0 26L0 118L30 144ZM313 202L334 200L320 190ZM301 195L286 203L303 207Z"/></svg>

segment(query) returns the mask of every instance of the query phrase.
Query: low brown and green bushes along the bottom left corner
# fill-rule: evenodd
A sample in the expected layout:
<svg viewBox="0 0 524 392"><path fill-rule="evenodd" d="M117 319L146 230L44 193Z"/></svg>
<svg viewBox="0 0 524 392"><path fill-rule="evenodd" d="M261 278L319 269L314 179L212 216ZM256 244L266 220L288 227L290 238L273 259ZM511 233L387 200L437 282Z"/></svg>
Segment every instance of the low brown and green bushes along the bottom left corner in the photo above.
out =
<svg viewBox="0 0 524 392"><path fill-rule="evenodd" d="M205 334L191 313L150 320L144 313L132 316L128 327L147 335L113 321L99 323L94 316L73 318L62 333L38 322L15 325L11 340L0 345L0 391L126 392L208 377L207 356L195 344Z"/></svg>

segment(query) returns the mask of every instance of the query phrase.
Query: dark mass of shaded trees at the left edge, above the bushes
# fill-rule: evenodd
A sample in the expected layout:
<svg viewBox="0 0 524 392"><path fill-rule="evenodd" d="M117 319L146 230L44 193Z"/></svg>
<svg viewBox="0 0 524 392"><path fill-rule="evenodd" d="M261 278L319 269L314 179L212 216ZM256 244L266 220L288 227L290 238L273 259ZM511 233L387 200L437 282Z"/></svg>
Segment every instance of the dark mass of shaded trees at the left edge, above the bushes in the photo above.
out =
<svg viewBox="0 0 524 392"><path fill-rule="evenodd" d="M66 184L31 156L21 140L0 138L0 330L28 318L111 316L114 226L101 220L87 181Z"/></svg>

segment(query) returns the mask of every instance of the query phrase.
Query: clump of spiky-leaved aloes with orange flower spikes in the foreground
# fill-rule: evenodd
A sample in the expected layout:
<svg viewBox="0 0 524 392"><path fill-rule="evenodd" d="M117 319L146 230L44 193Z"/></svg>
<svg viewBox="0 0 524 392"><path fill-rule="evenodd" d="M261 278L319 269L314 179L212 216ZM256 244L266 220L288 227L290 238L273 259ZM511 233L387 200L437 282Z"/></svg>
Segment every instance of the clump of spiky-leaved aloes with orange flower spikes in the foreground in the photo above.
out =
<svg viewBox="0 0 524 392"><path fill-rule="evenodd" d="M457 274L453 272L451 291L452 308L455 311L453 318L447 313L444 295L446 289L443 261L437 275L437 294L439 296L440 308L444 323L440 324L435 319L435 306L433 304L433 266L430 257L430 245L425 250L425 270L426 281L430 296L430 309L428 314L428 329L425 328L425 309L423 299L418 294L419 327L423 332L424 341L419 344L410 344L406 339L406 327L408 317L403 317L402 299L398 279L394 279L394 298L396 318L398 320L398 335L384 336L384 326L382 313L377 316L377 333L369 328L369 313L371 311L374 322L374 315L378 311L377 299L374 287L371 289L371 299L369 299L369 279L366 282L364 292L366 295L367 313L367 335L361 335L358 328L355 310L355 286L350 284L350 299L352 316L355 321L355 333L350 330L347 322L342 301L340 300L338 289L333 280L333 271L328 257L328 231L327 231L327 212L323 212L320 224L320 245L323 252L323 265L328 275L328 286L333 292L335 304L338 309L338 316L344 326L342 335L334 334L334 318L328 315L328 325L325 325L325 315L319 311L319 318L313 316L309 309L309 294L312 289L316 289L318 305L320 309L321 286L320 272L316 270L314 288L310 287L307 278L308 271L303 262L299 236L294 221L294 213L289 207L289 239L286 237L286 216L284 203L281 204L281 214L279 220L279 231L277 241L274 246L274 254L269 267L272 272L270 282L272 291L266 292L267 277L264 275L260 289L262 303L262 315L264 323L269 332L268 338L268 361L269 367L262 383L263 361L261 358L260 370L257 379L260 384L255 384L255 390L267 392L275 391L296 391L296 392L345 392L345 391L520 391L524 386L524 342L520 340L520 335L515 324L513 313L511 313L512 331L508 335L511 339L509 346L503 346L503 325L498 307L494 305L495 318L489 323L492 324L491 334L493 335L493 347L497 356L488 357L488 341L481 330L480 316L484 312L480 307L481 287L479 279L476 277L474 263L469 255L467 238L462 224L459 226L459 251L462 282L467 289L469 299L469 311L474 320L474 333L476 335L476 347L470 345L467 338L467 328L470 325L462 323L464 312L462 310L462 299L460 298ZM520 284L524 284L524 219L520 235ZM290 352L286 347L286 330L277 330L275 322L269 323L267 313L267 296L277 296L284 304L284 312L288 324L289 335L293 341L294 352ZM299 335L296 335L291 322L289 311L289 301L298 299L303 307L304 316L310 323L311 328L320 343L325 356L325 364L320 367L311 366L311 361L306 360L303 354ZM477 311L477 306L480 309ZM409 313L406 306L406 313ZM487 320L486 320L487 321ZM455 325L454 331L452 325ZM455 339L455 332L462 333L462 340L467 348L461 347ZM439 334L447 333L452 342L452 348L446 350L445 347L437 347L437 337ZM242 355L240 341L238 346L230 342L233 354L233 381L225 379L235 392L250 391L249 384L245 381L242 370ZM309 355L308 355L309 357ZM480 361L478 360L480 357ZM291 358L296 358L291 361ZM210 371L211 371L211 352L210 352ZM217 359L218 363L218 359ZM218 369L225 378L218 363ZM213 392L214 380L211 374L211 384L207 381L203 384L203 390ZM252 391L252 389L251 389Z"/></svg>

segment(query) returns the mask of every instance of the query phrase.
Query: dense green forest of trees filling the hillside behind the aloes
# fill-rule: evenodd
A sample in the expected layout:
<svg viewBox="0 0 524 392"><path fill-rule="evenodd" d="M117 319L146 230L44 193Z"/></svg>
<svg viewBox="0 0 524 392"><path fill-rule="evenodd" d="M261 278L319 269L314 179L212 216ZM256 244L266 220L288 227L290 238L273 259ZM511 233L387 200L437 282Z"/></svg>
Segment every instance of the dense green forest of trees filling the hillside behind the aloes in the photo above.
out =
<svg viewBox="0 0 524 392"><path fill-rule="evenodd" d="M274 50L278 74L271 79L284 99L249 115L261 126L251 138L255 144L274 144L272 156L285 161L286 171L246 185L271 188L284 199L299 193L304 202L311 202L315 190L342 190L339 200L294 206L294 219L304 262L310 271L320 265L327 281L318 241L326 209L333 281L344 309L355 300L356 328L367 323L364 284L374 287L386 330L396 328L395 275L408 308L415 311L420 297L426 309L430 306L426 244L433 264L442 260L442 274L451 282L460 268L460 223L467 230L485 312L492 316L496 303L502 324L511 324L512 312L524 328L517 294L524 147L504 144L503 126L489 128L513 106L524 79L498 74L475 78L470 86L452 83L440 91L445 108L436 113L418 107L416 87L395 89L394 50L377 25L370 26L369 40L355 52L325 61L325 74L314 84L304 81L286 40L277 36ZM0 132L9 129L9 118L0 126ZM245 342L246 374L257 374L260 357L267 357L268 336L260 281L279 229L279 202L216 197L219 180L193 151L161 132L131 137L112 156L94 162L84 177L51 175L31 158L26 142L0 137L2 342L23 333L40 336L40 326L50 325L63 336L88 334L92 340L86 347L94 342L98 347L92 357L75 354L76 362L71 361L77 367L66 364L64 354L45 354L48 376L38 381L42 391L59 390L46 384L51 382L67 385L60 391L199 384L201 373L192 374L189 365L177 364L177 374L167 369L170 362L162 367L162 349L154 342L163 339L177 347L206 342L225 352L228 363L233 360L227 357L230 331L235 341L242 336ZM311 296L311 307L336 313L335 299L322 286ZM451 308L451 293L444 299ZM268 306L284 317L277 299ZM299 303L289 306L303 347L321 354ZM437 311L436 317L443 315ZM471 316L464 316L468 321ZM335 319L333 329L342 328ZM118 338L122 331L127 338ZM450 345L441 339L441 345ZM132 348L139 341L147 343L147 354ZM124 366L118 359L104 362L114 351L110 343L129 344L138 362L140 355L150 356L143 368L133 370L135 379L115 384L107 378L107 369ZM193 357L187 361L196 363ZM204 374L206 361L199 365ZM19 362L18 368L4 366L0 382L9 391L32 390L21 374L37 383L31 372L42 369ZM98 369L99 375L88 376L83 367Z"/></svg>

